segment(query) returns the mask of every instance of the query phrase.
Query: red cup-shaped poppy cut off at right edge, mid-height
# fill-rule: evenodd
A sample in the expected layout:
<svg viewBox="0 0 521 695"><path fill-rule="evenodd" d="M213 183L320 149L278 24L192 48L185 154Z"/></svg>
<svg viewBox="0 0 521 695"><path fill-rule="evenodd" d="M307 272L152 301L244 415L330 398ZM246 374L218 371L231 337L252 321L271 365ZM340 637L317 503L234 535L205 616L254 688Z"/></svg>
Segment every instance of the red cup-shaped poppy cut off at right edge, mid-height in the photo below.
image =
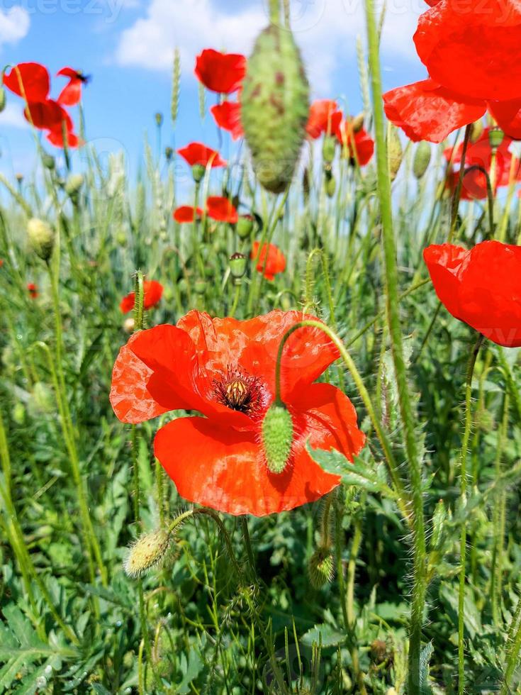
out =
<svg viewBox="0 0 521 695"><path fill-rule="evenodd" d="M423 252L432 284L452 316L498 345L521 347L521 247L483 241Z"/></svg>

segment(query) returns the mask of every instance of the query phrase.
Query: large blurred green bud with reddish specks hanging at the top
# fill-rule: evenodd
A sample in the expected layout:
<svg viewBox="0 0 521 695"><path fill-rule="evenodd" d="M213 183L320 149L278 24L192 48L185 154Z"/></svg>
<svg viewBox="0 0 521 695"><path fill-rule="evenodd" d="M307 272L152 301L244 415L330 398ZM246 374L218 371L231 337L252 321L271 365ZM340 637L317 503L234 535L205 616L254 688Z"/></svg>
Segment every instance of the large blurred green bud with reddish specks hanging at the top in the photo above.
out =
<svg viewBox="0 0 521 695"><path fill-rule="evenodd" d="M293 34L271 24L257 38L243 82L241 121L257 179L288 187L306 135L309 84Z"/></svg>

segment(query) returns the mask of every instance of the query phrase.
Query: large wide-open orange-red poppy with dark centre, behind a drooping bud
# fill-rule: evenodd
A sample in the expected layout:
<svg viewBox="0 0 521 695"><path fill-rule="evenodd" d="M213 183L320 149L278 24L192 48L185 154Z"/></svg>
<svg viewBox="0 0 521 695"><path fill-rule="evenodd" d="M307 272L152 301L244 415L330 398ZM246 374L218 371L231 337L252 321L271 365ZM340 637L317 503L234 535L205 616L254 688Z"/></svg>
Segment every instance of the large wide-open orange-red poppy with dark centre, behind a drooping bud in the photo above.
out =
<svg viewBox="0 0 521 695"><path fill-rule="evenodd" d="M293 444L283 472L271 473L262 421L274 401L276 355L286 330L303 316L272 311L250 321L191 311L177 326L133 335L114 365L111 404L123 422L185 409L159 429L157 459L179 494L230 514L266 514L315 501L340 482L308 455L335 448L349 460L364 446L351 402L330 384L314 384L338 357L320 330L301 328L283 352L281 398L291 413Z"/></svg>

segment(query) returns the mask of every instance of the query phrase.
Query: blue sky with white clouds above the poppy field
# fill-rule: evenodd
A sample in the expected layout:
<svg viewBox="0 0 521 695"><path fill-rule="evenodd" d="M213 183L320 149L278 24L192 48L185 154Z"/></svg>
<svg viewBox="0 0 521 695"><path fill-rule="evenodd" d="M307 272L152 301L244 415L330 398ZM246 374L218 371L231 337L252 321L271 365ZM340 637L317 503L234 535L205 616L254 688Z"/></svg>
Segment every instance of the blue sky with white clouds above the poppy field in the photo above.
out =
<svg viewBox="0 0 521 695"><path fill-rule="evenodd" d="M194 59L202 48L249 52L267 23L267 0L0 0L0 62L42 62L55 74L69 65L92 80L84 91L86 135L102 151L123 149L138 170L145 131L155 146L156 111L164 113L163 144L217 143L210 115L198 115ZM292 0L293 30L303 48L313 96L361 107L356 39L364 35L363 0ZM425 77L412 35L422 0L387 3L382 65L386 88ZM175 133L169 120L172 57L181 52L182 82ZM55 77L57 96L65 78ZM208 94L208 106L214 96ZM8 94L0 113L0 171L29 172L35 149ZM76 114L73 111L73 118ZM49 150L55 151L51 146Z"/></svg>

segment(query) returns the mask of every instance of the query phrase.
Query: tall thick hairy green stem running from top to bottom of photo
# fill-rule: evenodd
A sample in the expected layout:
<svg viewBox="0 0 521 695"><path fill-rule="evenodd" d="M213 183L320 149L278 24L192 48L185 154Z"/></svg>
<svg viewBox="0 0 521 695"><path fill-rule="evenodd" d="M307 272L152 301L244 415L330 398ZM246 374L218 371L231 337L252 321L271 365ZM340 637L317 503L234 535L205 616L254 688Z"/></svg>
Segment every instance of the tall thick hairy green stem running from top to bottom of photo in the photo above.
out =
<svg viewBox="0 0 521 695"><path fill-rule="evenodd" d="M408 691L413 694L420 684L420 651L423 611L427 593L427 553L425 520L423 516L423 485L421 460L415 418L407 383L398 304L398 267L391 211L391 182L388 172L386 133L379 61L379 33L374 16L373 0L365 0L369 68L373 96L374 128L376 136L376 168L380 201L383 257L386 275L386 308L391 353L393 356L398 391L398 406L403 426L405 452L408 460L409 482L412 494L414 583L411 597L410 637L408 656Z"/></svg>

